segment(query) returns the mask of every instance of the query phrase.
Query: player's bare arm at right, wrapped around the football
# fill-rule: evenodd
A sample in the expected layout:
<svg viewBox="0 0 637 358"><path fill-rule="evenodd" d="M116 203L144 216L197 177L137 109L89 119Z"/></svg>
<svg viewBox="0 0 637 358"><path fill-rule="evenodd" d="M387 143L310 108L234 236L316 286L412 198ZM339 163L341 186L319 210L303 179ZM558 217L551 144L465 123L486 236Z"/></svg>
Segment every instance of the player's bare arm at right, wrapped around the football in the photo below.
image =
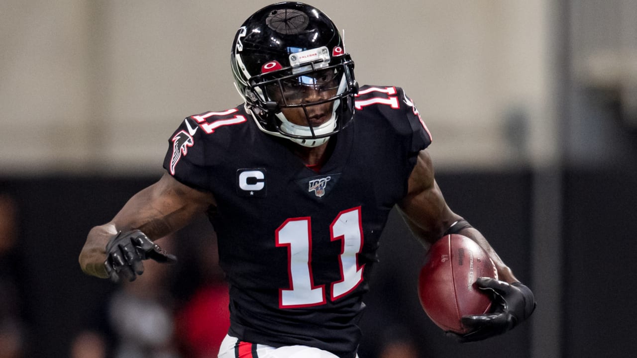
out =
<svg viewBox="0 0 637 358"><path fill-rule="evenodd" d="M427 247L440 239L454 223L460 224L462 220L462 217L454 213L445 202L434 178L433 163L427 150L420 151L418 155L416 166L409 178L407 196L399 204L399 209L413 233ZM476 241L489 254L496 264L501 280L508 283L517 281L511 269L500 259L480 231L467 225L457 233Z"/></svg>

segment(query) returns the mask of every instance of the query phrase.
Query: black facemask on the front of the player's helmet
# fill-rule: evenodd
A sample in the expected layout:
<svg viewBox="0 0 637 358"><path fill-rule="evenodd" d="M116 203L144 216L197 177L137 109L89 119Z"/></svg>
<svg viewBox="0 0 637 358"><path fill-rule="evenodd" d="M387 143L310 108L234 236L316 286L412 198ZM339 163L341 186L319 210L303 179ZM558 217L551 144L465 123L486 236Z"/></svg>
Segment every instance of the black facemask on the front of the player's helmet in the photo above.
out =
<svg viewBox="0 0 637 358"><path fill-rule="evenodd" d="M325 47L310 52L321 50L327 52ZM250 78L246 90L254 100L254 114L262 119L259 123L265 124L261 129L305 147L322 145L340 131L350 119L347 115L353 114L347 104L352 102L355 85L349 56L334 62L276 66L280 69Z"/></svg>

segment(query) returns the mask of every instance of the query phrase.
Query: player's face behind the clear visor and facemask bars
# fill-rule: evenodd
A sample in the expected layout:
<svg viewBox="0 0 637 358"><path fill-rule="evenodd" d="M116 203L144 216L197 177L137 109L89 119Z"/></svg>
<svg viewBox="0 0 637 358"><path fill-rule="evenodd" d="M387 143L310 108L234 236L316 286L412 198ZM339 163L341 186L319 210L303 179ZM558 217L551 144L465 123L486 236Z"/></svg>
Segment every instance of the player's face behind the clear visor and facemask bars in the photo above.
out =
<svg viewBox="0 0 637 358"><path fill-rule="evenodd" d="M306 104L304 107L282 108L287 120L297 125L317 126L332 117L334 102L312 104L336 96L341 75L335 69L318 71L311 76L297 76L282 80L281 86L268 88L268 94L279 104ZM285 100L283 100L285 99ZM305 113L307 111L307 114Z"/></svg>

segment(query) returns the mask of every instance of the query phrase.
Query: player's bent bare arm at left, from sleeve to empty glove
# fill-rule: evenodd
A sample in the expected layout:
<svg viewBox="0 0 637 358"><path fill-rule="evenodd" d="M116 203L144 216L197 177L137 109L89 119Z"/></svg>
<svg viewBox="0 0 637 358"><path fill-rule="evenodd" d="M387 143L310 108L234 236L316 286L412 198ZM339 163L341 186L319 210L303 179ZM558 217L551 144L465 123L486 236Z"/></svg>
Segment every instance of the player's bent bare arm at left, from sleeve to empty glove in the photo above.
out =
<svg viewBox="0 0 637 358"><path fill-rule="evenodd" d="M106 245L118 233L140 230L151 240L182 228L215 201L210 192L193 189L168 173L131 197L110 222L90 230L80 252L80 266L88 275L107 278Z"/></svg>

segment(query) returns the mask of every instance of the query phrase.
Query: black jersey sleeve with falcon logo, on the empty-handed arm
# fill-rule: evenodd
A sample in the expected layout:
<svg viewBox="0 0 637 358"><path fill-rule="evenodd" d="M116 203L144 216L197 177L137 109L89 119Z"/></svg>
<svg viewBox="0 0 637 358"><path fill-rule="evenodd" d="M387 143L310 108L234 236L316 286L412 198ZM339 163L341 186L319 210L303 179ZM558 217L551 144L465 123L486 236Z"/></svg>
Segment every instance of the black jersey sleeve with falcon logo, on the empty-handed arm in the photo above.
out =
<svg viewBox="0 0 637 358"><path fill-rule="evenodd" d="M210 182L207 168L206 143L203 131L192 117L187 117L168 140L164 169L178 182L197 189L206 189Z"/></svg>

